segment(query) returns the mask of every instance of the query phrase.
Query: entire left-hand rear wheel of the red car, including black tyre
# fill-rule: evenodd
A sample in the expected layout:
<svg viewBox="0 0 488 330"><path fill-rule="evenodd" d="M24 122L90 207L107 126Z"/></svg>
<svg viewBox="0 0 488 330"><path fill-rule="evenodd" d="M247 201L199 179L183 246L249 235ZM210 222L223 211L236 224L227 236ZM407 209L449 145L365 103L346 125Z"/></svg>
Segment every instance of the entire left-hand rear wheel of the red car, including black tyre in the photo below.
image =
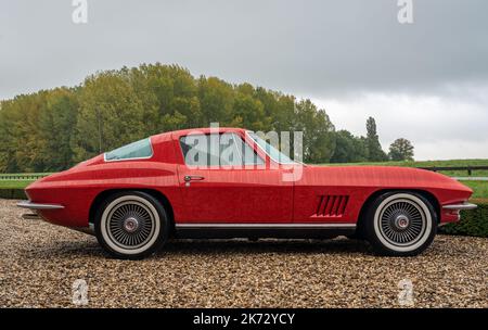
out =
<svg viewBox="0 0 488 330"><path fill-rule="evenodd" d="M166 211L144 192L113 194L97 214L97 239L117 258L139 259L153 254L166 242L168 232Z"/></svg>

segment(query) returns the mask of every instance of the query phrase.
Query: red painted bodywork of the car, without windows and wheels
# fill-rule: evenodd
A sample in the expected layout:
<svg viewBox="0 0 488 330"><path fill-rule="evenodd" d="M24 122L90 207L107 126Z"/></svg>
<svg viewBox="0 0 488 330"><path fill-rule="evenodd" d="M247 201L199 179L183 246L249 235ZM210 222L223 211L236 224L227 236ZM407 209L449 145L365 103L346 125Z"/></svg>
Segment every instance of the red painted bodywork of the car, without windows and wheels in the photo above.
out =
<svg viewBox="0 0 488 330"><path fill-rule="evenodd" d="M36 203L54 203L64 210L42 211L50 223L87 227L90 206L111 189L152 189L164 194L175 223L321 223L354 224L373 193L385 189L420 190L441 205L466 201L472 190L444 175L406 167L305 166L296 181L283 181L294 172L273 163L261 150L266 169L207 168L184 165L179 138L195 130L180 130L151 137L154 154L147 160L104 162L103 155L42 178L27 187ZM208 134L208 128L200 129ZM233 131L247 141L245 130ZM185 187L185 175L203 176ZM440 207L441 210L441 207ZM455 213L441 212L441 223L455 221Z"/></svg>

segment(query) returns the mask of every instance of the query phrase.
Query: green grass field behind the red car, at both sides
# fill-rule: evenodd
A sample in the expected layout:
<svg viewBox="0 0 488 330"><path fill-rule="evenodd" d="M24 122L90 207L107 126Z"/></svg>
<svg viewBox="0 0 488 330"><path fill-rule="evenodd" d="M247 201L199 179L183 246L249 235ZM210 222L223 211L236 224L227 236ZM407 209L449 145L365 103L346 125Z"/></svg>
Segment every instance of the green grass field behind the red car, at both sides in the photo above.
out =
<svg viewBox="0 0 488 330"><path fill-rule="evenodd" d="M385 163L348 163L348 164L322 164L324 166L407 166L407 167L428 167L428 166L488 166L488 160L453 160L453 161L426 161L426 162L385 162ZM447 176L466 177L466 170L440 172ZM474 170L472 176L488 177L488 170ZM0 189L24 189L31 180L0 180ZM473 199L488 199L488 181L461 181L474 190Z"/></svg>

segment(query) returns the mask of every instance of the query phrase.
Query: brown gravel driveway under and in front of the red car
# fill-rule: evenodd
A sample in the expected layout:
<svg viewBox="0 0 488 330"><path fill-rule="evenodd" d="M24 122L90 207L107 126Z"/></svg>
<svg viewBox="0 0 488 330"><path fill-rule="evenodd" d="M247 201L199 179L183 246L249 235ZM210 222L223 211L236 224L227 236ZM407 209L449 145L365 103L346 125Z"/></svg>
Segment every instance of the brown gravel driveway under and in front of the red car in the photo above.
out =
<svg viewBox="0 0 488 330"><path fill-rule="evenodd" d="M0 200L1 307L76 306L77 279L89 307L397 307L402 280L416 307L488 307L488 239L438 236L410 258L344 238L175 241L116 261L93 237L22 220L15 202Z"/></svg>

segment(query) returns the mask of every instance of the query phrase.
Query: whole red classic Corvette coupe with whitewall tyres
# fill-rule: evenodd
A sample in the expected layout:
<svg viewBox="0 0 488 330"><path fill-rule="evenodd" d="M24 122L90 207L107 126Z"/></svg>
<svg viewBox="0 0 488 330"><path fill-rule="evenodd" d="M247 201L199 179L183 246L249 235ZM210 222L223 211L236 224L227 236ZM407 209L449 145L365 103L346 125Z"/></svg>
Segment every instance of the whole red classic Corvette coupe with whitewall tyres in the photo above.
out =
<svg viewBox="0 0 488 330"><path fill-rule="evenodd" d="M424 251L472 190L415 168L310 166L245 129L165 132L50 175L26 189L26 219L92 232L120 258L169 238L368 240L383 255Z"/></svg>

